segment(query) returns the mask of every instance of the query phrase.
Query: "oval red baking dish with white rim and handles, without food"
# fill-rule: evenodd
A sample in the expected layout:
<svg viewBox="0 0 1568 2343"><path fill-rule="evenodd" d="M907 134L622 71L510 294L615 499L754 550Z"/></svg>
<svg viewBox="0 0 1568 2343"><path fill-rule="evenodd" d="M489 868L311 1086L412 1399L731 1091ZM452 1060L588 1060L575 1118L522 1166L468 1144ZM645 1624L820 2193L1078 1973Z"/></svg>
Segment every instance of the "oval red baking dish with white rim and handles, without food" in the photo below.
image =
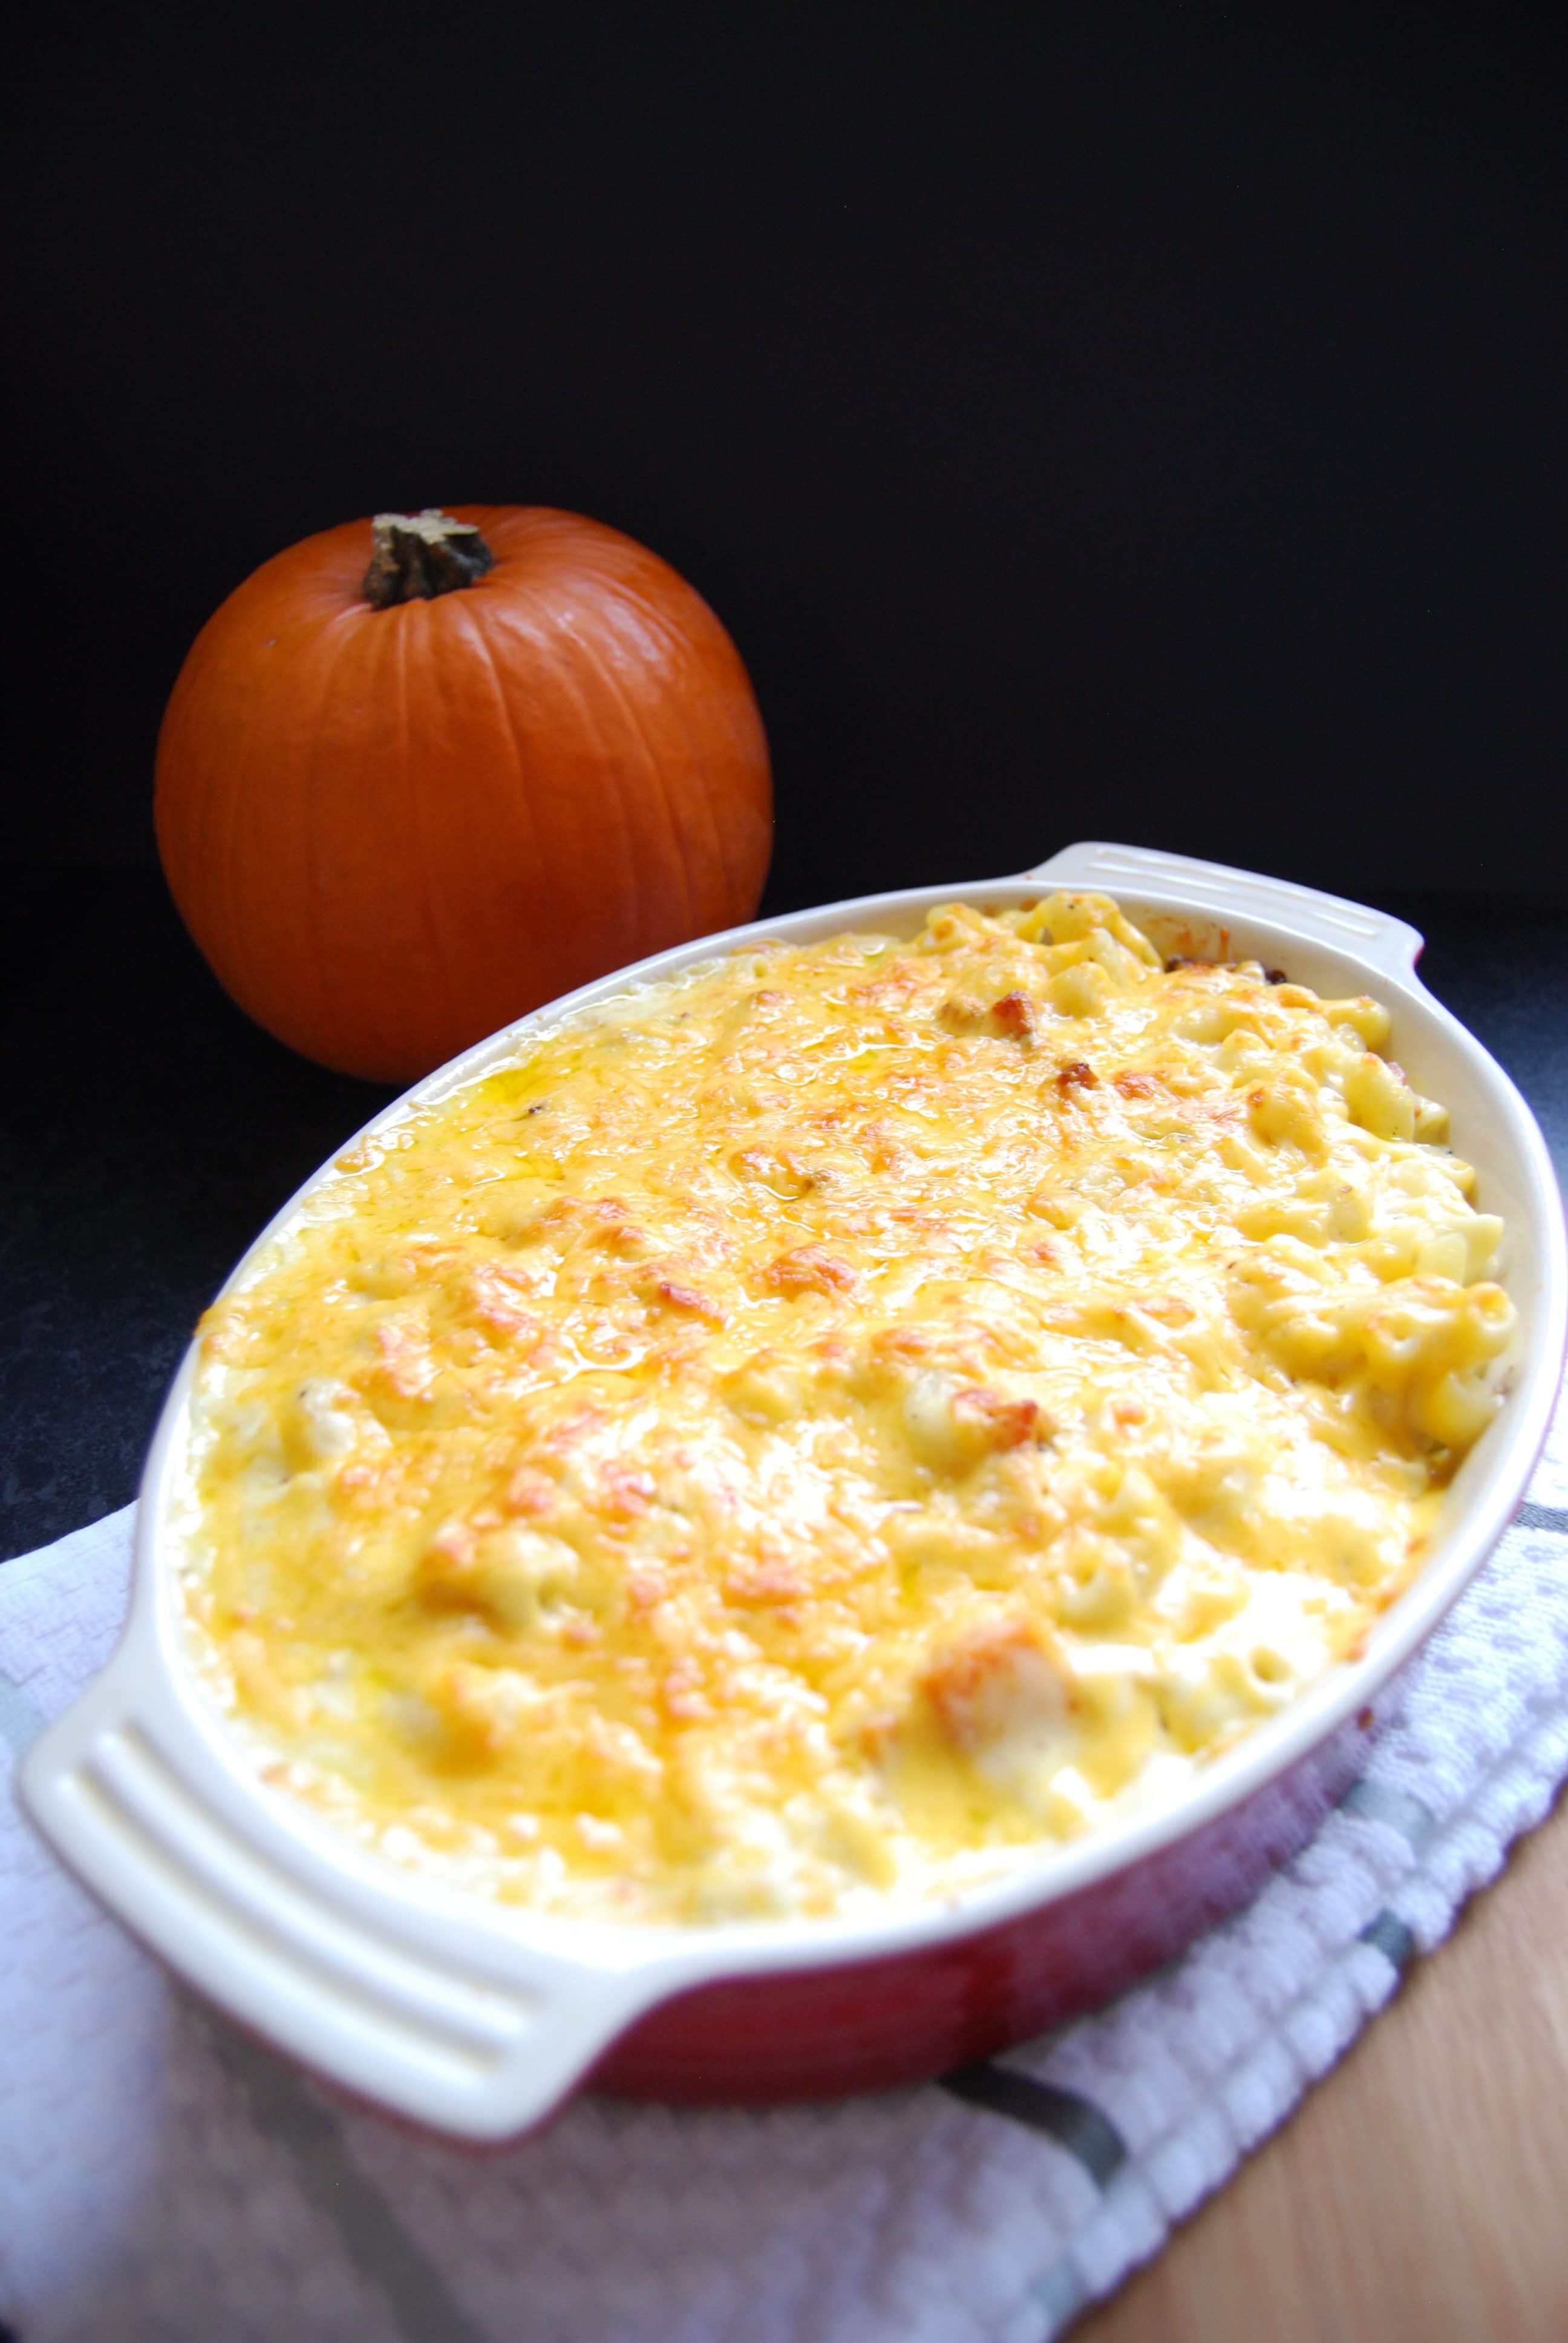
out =
<svg viewBox="0 0 1568 2343"><path fill-rule="evenodd" d="M1392 1673L1526 1488L1568 1321L1563 1214L1545 1141L1502 1068L1418 982L1413 928L1219 865L1071 846L1013 879L837 902L616 970L469 1050L410 1099L471 1080L530 1026L616 993L633 975L675 975L762 937L914 935L935 904L1017 904L1048 886L1116 895L1165 951L1280 963L1322 993L1373 991L1392 1012L1402 1066L1448 1106L1479 1195L1505 1218L1500 1275L1519 1326L1505 1406L1460 1467L1418 1579L1359 1659L1207 1764L1179 1799L1024 1856L949 1903L710 1928L553 1919L401 1872L267 1790L199 1689L171 1530L192 1352L141 1485L124 1638L33 1748L23 1797L87 1886L234 2017L396 2113L471 2139L525 2130L584 2078L670 2099L909 2083L1022 2041L1170 1959L1252 1895L1350 1783ZM330 1176L323 1167L258 1244Z"/></svg>

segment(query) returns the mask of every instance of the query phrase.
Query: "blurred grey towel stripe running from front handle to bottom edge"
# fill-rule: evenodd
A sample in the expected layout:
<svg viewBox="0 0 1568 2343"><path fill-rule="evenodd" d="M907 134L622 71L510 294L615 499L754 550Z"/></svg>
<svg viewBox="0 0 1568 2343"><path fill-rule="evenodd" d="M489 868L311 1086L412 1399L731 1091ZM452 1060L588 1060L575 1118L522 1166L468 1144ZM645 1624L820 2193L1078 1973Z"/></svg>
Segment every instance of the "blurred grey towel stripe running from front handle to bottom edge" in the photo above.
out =
<svg viewBox="0 0 1568 2343"><path fill-rule="evenodd" d="M206 2010L199 2015L255 2125L284 2149L300 2191L326 2214L359 2275L382 2296L403 2343L483 2343L420 2240L354 2163L330 2109L272 2050Z"/></svg>

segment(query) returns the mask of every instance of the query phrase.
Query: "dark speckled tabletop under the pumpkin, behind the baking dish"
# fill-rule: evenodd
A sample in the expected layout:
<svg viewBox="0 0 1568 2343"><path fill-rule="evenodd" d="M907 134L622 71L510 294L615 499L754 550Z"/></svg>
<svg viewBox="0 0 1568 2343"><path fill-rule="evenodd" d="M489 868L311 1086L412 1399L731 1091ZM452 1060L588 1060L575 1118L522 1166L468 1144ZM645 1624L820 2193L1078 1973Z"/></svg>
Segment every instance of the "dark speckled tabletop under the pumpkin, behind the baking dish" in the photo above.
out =
<svg viewBox="0 0 1568 2343"><path fill-rule="evenodd" d="M832 874L823 872L823 895ZM0 998L0 1558L136 1495L232 1261L391 1092L260 1033L157 872L12 872ZM1385 895L1568 1167L1568 904ZM769 902L769 911L790 904Z"/></svg>

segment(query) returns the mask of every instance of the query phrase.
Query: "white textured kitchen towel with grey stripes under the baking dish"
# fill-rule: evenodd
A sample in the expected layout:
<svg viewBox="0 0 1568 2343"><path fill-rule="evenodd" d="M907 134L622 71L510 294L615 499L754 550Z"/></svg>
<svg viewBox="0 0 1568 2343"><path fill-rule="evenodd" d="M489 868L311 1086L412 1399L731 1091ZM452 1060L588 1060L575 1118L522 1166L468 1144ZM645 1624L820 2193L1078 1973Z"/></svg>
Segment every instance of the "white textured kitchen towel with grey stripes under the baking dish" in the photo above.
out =
<svg viewBox="0 0 1568 2343"><path fill-rule="evenodd" d="M0 1570L14 1762L108 1657L131 1511ZM1568 1776L1568 1408L1402 1713L1259 1900L947 2085L579 2099L464 2151L234 2031L0 1792L0 2317L21 2343L1048 2343L1324 2074ZM9 1774L7 1774L9 1781Z"/></svg>

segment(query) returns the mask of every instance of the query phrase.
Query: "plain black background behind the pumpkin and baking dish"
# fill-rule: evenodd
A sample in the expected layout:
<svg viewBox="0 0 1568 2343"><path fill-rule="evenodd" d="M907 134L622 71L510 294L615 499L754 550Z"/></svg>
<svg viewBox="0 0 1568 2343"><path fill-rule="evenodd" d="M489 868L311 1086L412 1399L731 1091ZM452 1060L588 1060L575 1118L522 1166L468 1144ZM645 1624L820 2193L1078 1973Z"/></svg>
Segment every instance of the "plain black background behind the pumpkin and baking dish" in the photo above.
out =
<svg viewBox="0 0 1568 2343"><path fill-rule="evenodd" d="M12 21L9 860L150 860L216 602L471 497L729 623L776 907L1085 832L1563 893L1552 12Z"/></svg>

